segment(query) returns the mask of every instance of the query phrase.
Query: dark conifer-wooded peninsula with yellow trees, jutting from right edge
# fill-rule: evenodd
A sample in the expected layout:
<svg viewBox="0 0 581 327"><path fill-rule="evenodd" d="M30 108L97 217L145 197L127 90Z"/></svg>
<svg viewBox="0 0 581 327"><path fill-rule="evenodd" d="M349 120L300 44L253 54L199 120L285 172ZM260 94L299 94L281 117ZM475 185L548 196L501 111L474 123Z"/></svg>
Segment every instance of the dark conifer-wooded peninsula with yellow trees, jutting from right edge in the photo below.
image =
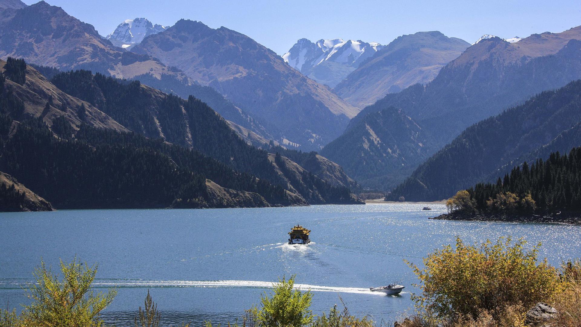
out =
<svg viewBox="0 0 581 327"><path fill-rule="evenodd" d="M496 183L478 183L451 197L433 219L581 224L581 147L512 168Z"/></svg>

